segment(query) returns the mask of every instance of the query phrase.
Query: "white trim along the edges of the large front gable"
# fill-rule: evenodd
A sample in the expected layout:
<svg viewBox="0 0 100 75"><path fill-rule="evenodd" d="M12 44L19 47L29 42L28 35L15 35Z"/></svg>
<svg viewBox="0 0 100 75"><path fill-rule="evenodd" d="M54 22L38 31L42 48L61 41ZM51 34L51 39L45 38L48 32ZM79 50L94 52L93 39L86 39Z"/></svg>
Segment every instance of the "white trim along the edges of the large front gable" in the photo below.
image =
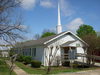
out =
<svg viewBox="0 0 100 75"><path fill-rule="evenodd" d="M52 39L46 41L46 42L44 42L44 44L47 44L47 43L49 43L49 42L51 42L51 41L53 41L53 40L55 40L55 39L57 39L57 38L63 36L64 34L67 34L67 33L71 33L71 34L74 35L76 38L78 38L81 42L83 42L83 43L85 43L87 46L89 46L86 42L84 42L81 38L79 38L77 35L75 35L75 34L72 33L71 31L66 31L66 32L64 32L64 33L62 33L62 34L60 34L60 35L58 35L58 36L56 36L56 37L54 37L54 38L52 38Z"/></svg>

